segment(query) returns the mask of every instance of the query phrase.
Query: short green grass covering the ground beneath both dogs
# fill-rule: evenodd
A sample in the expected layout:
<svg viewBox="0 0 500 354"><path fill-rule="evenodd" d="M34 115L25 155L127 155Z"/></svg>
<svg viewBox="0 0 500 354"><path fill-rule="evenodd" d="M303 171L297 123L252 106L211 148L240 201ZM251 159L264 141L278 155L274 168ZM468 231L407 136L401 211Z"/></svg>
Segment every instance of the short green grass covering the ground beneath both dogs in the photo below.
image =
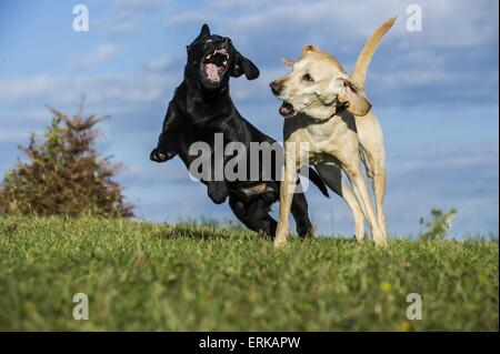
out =
<svg viewBox="0 0 500 354"><path fill-rule="evenodd" d="M0 330L498 331L498 263L487 241L273 250L214 225L0 218ZM76 293L89 321L72 318Z"/></svg>

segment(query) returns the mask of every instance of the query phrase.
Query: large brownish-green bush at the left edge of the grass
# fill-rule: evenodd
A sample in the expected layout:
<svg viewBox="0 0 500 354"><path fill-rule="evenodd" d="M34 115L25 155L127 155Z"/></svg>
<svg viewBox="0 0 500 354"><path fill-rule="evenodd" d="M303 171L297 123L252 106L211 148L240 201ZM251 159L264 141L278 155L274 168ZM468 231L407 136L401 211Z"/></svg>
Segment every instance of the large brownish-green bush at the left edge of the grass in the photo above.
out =
<svg viewBox="0 0 500 354"><path fill-rule="evenodd" d="M32 133L28 146L19 146L28 159L6 174L0 213L131 216L133 205L113 181L121 165L100 158L94 146L94 125L108 117L82 117L82 107L71 118L50 111L43 141Z"/></svg>

